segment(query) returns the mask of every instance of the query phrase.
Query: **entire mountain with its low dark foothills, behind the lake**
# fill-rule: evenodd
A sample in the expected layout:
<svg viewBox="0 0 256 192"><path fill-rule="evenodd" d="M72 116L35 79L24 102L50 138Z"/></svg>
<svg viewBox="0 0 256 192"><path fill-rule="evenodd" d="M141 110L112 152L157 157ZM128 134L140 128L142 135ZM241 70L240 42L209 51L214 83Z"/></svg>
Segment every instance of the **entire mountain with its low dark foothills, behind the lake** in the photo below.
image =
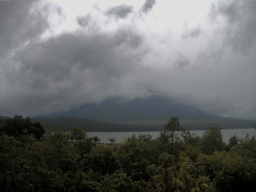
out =
<svg viewBox="0 0 256 192"><path fill-rule="evenodd" d="M38 120L48 128L157 131L162 130L172 116L178 116L181 125L189 130L205 130L212 126L220 126L223 129L249 128L256 125L256 121L210 115L194 106L161 97L135 99L123 103L109 99L100 104L85 104L68 112L33 118L33 120Z"/></svg>

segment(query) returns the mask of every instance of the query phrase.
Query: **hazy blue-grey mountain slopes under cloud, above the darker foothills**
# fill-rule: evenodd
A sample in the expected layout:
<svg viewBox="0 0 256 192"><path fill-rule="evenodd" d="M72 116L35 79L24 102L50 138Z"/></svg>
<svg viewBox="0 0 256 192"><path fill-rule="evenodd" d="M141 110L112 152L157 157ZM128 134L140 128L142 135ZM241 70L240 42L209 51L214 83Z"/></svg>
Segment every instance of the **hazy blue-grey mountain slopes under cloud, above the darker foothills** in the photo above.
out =
<svg viewBox="0 0 256 192"><path fill-rule="evenodd" d="M120 122L129 120L169 120L172 116L180 119L220 119L223 117L210 115L187 104L173 102L167 98L153 97L119 102L108 99L100 104L84 104L78 108L43 116L53 118L59 116L86 118L104 122Z"/></svg>

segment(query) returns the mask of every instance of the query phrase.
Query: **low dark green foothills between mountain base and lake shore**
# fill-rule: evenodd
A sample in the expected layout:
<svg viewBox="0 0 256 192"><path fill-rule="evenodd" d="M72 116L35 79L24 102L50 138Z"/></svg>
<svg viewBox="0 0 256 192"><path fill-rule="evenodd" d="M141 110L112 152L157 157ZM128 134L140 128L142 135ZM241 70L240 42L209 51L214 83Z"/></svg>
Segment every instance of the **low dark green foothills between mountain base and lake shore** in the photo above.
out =
<svg viewBox="0 0 256 192"><path fill-rule="evenodd" d="M162 131L164 124L168 120L136 120L119 123L106 123L82 118L58 117L58 118L32 118L32 121L38 121L46 129L52 130L72 130L81 128L86 132L122 132L122 131ZM188 130L206 130L212 126L220 126L222 129L250 128L256 122L248 120L207 120L207 119L189 119L180 120L183 128Z"/></svg>

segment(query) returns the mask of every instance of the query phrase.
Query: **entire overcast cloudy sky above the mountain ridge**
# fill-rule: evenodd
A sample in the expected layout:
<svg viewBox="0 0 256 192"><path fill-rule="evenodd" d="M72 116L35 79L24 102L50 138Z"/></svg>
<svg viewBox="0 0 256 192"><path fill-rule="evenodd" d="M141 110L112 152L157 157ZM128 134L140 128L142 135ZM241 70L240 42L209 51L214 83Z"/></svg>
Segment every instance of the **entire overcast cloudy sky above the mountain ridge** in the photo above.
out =
<svg viewBox="0 0 256 192"><path fill-rule="evenodd" d="M256 1L0 1L0 115L154 95L256 120Z"/></svg>

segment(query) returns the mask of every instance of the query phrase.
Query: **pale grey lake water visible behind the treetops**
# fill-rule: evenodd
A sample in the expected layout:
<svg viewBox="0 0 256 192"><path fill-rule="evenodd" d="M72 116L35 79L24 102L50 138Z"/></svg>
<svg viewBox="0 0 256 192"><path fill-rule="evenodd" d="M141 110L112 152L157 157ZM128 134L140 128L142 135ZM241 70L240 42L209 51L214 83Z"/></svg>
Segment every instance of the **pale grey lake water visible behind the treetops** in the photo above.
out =
<svg viewBox="0 0 256 192"><path fill-rule="evenodd" d="M191 134L195 133L197 136L203 136L203 133L206 130L195 130L195 131L190 131ZM247 133L249 134L250 137L253 135L256 135L256 130L254 128L248 128L248 129L226 129L226 130L221 130L222 136L223 136L223 141L228 143L230 137L233 135L238 136L238 138L244 138ZM115 138L116 143L122 143L125 138L131 137L132 134L135 134L138 136L139 134L149 134L152 136L152 138L157 138L160 134L160 131L149 131L149 132L87 132L87 135L89 137L93 136L98 136L100 138L100 142L102 143L110 143L108 141L108 138Z"/></svg>

